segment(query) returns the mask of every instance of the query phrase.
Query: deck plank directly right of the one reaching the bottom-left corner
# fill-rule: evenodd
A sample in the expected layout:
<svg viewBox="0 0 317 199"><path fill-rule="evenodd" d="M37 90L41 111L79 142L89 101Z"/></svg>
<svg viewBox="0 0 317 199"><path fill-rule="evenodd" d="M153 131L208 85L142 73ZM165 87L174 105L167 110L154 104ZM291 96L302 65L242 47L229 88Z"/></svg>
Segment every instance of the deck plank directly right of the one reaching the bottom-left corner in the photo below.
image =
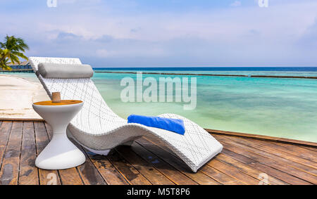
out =
<svg viewBox="0 0 317 199"><path fill-rule="evenodd" d="M23 139L18 184L39 184L39 174L37 167L35 167L35 159L37 158L35 146L35 130L33 122L23 122Z"/></svg>

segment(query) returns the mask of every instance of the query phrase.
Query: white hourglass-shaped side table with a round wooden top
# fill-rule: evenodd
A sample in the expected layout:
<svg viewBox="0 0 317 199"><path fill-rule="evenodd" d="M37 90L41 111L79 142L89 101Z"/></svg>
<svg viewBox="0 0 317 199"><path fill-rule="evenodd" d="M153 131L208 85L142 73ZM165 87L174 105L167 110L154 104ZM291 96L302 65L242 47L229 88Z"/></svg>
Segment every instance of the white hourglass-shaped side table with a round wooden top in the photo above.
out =
<svg viewBox="0 0 317 199"><path fill-rule="evenodd" d="M53 129L51 142L39 154L35 165L41 169L68 169L82 165L85 155L68 139L66 128L82 108L82 101L43 101L33 103L34 110Z"/></svg>

